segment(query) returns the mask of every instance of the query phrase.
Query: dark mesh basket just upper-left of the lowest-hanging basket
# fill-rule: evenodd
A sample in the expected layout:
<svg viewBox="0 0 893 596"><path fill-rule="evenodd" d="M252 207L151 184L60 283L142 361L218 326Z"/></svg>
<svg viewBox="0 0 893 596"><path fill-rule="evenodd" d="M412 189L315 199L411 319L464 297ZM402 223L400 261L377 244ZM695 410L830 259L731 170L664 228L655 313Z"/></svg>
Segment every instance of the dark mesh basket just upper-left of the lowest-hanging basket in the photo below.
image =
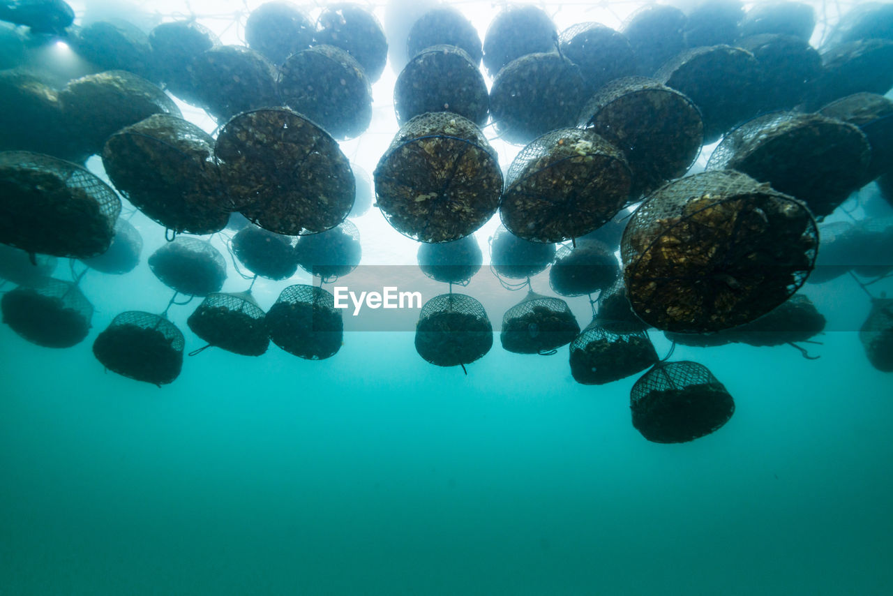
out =
<svg viewBox="0 0 893 596"><path fill-rule="evenodd" d="M571 374L583 385L620 381L657 363L645 332L611 332L593 320L571 342Z"/></svg>

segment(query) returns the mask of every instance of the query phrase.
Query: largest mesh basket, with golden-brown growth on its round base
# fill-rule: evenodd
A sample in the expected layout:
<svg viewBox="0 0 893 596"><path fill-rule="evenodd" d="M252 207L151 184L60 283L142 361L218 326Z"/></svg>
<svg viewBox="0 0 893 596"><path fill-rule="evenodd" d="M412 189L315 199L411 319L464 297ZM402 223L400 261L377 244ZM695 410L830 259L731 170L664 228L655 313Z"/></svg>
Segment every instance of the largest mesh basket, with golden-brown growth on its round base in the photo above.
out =
<svg viewBox="0 0 893 596"><path fill-rule="evenodd" d="M623 233L630 305L671 332L735 327L768 313L812 271L818 230L793 197L745 174L704 172L658 189Z"/></svg>

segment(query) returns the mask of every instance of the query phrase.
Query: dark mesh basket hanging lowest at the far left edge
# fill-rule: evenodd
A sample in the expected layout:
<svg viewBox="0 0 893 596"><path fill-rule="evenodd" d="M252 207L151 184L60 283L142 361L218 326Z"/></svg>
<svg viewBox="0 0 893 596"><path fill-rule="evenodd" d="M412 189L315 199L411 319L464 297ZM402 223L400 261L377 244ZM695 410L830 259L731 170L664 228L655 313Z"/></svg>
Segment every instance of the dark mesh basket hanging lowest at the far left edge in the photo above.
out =
<svg viewBox="0 0 893 596"><path fill-rule="evenodd" d="M45 278L6 292L3 322L45 348L71 348L90 330L93 305L70 281Z"/></svg>

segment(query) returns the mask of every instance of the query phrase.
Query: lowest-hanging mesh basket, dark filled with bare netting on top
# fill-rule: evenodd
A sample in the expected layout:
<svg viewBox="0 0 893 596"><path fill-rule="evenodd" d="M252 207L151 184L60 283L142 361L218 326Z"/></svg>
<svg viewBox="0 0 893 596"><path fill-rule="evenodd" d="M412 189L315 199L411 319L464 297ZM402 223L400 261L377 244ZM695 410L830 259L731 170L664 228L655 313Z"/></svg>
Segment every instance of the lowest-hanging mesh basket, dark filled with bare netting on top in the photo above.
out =
<svg viewBox="0 0 893 596"><path fill-rule="evenodd" d="M725 386L704 365L656 365L632 386L632 425L648 441L684 443L719 430L735 413Z"/></svg>

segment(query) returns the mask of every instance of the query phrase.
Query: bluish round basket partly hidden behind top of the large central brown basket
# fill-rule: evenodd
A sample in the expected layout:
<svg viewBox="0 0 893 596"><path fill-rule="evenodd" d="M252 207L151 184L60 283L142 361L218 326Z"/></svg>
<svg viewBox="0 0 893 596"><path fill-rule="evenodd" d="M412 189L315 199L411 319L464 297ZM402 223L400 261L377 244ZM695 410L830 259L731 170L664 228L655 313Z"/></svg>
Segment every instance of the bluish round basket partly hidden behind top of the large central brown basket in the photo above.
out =
<svg viewBox="0 0 893 596"><path fill-rule="evenodd" d="M396 119L452 112L478 126L487 122L487 84L472 58L456 46L429 46L406 64L394 86Z"/></svg>

